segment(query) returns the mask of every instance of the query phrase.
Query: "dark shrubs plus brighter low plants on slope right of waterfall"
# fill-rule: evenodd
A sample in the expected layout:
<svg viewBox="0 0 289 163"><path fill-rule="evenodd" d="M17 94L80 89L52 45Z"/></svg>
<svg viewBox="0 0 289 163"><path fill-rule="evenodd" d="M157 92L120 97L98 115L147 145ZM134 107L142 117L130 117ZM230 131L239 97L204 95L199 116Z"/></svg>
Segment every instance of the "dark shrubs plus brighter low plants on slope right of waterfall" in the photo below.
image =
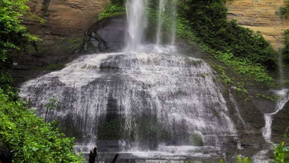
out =
<svg viewBox="0 0 289 163"><path fill-rule="evenodd" d="M203 51L222 63L209 62L225 85L245 93L243 86L253 82L276 87L269 71L277 69L277 52L260 32L228 21L225 2L179 1L177 36L201 45Z"/></svg>

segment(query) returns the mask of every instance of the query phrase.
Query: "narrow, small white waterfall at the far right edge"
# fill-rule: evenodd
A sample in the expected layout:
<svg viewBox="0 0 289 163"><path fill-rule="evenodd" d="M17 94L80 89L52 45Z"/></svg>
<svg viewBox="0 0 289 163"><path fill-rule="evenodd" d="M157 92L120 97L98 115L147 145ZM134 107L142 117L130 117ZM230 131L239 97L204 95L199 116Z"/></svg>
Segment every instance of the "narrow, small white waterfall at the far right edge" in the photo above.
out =
<svg viewBox="0 0 289 163"><path fill-rule="evenodd" d="M264 114L265 126L262 128L263 137L265 141L268 143L272 143L271 142L271 133L272 133L271 125L272 125L273 116L277 112L279 112L281 109L283 109L284 105L289 100L288 90L275 91L275 93L276 95L279 95L279 99L277 100L275 110L273 111L273 113Z"/></svg>

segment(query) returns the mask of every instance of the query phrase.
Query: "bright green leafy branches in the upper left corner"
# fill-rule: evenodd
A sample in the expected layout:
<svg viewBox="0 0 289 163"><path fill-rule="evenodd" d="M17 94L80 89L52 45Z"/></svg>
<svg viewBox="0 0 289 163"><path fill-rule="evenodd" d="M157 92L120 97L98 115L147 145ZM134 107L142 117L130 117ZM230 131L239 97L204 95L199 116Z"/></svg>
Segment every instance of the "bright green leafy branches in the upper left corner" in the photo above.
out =
<svg viewBox="0 0 289 163"><path fill-rule="evenodd" d="M28 0L1 0L0 64L2 65L11 58L13 51L25 49L29 42L39 40L36 36L31 35L24 25L21 25L22 20L19 19L26 13L32 15L29 12L29 7L25 5L27 2ZM44 22L38 16L34 16L33 19Z"/></svg>

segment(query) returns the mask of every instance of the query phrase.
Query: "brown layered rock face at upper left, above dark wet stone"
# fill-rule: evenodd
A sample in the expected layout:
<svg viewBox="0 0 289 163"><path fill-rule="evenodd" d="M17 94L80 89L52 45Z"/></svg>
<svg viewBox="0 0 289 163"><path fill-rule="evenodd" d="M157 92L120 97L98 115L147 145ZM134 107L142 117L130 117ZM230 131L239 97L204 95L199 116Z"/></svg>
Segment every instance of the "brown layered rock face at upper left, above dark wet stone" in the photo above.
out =
<svg viewBox="0 0 289 163"><path fill-rule="evenodd" d="M53 40L61 37L84 36L110 0L33 0L31 11L46 20L45 24L24 21L33 34Z"/></svg>

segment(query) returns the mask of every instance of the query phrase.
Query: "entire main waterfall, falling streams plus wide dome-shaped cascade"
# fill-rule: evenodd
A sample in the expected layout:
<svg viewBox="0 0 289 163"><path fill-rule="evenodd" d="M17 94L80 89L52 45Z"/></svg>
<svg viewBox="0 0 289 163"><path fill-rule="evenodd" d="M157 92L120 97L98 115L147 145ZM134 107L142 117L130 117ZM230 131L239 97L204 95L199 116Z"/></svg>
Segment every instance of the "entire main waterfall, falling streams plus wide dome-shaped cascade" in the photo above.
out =
<svg viewBox="0 0 289 163"><path fill-rule="evenodd" d="M209 157L210 151L237 136L221 89L214 82L216 75L203 60L168 55L171 50L157 45L147 50L142 45L145 4L144 0L126 2L125 52L81 56L60 71L27 81L20 95L39 116L45 115L50 97L58 98L57 109L49 112L48 119L59 119L80 134L79 145L96 145L101 126L117 120L123 152L196 152ZM176 2L171 4L175 11ZM165 6L161 0L160 12ZM162 29L162 18L159 21ZM175 31L172 33L171 44L175 40ZM151 155L154 153L149 152Z"/></svg>

